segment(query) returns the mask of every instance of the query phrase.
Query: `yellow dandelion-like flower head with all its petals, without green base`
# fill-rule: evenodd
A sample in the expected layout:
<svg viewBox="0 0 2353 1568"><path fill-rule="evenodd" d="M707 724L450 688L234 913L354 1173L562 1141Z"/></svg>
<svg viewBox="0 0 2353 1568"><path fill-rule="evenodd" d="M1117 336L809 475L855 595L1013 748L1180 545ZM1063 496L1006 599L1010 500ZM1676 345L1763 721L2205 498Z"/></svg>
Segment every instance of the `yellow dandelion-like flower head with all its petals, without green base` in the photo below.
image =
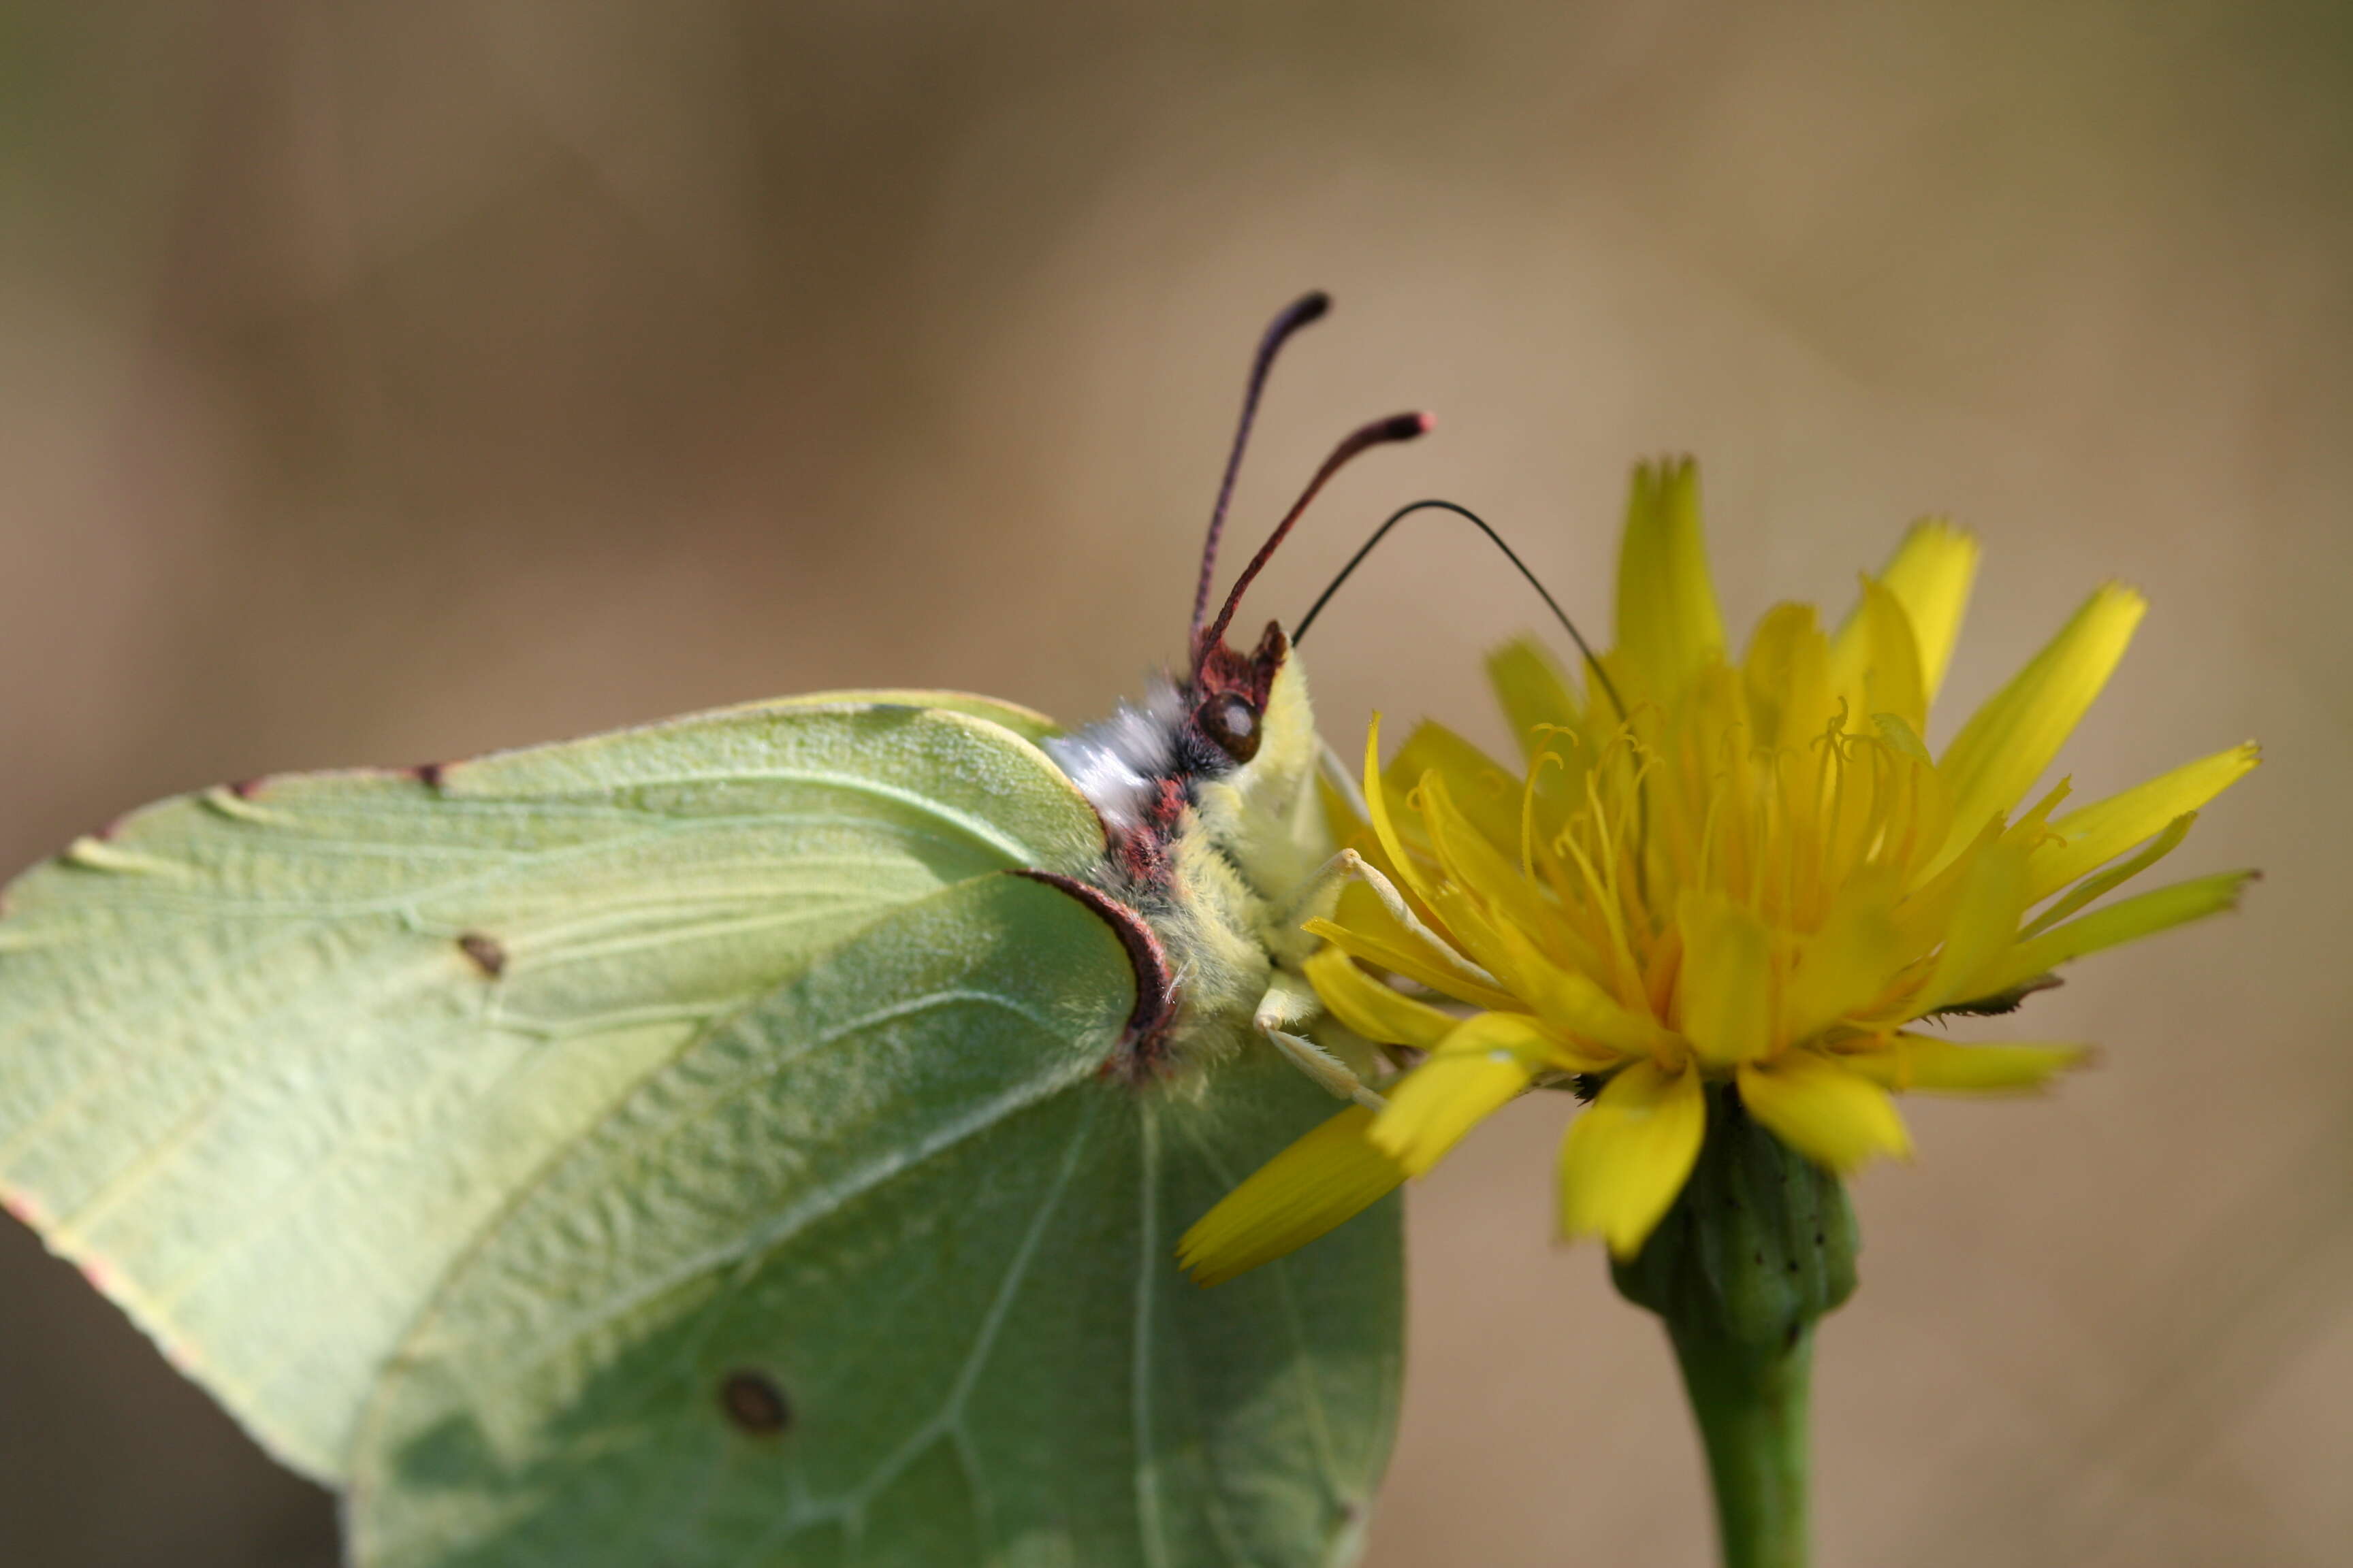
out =
<svg viewBox="0 0 2353 1568"><path fill-rule="evenodd" d="M1906 1025L2002 1013L2101 947L2226 910L2249 872L2087 905L2181 844L2254 745L2089 806L2026 792L2099 696L2141 595L2099 588L1929 757L1977 543L1918 524L1838 630L1765 614L1734 663L1689 463L1635 473L1619 644L1579 696L1532 642L1489 661L1527 766L1424 724L1365 748L1367 863L1311 978L1332 1018L1414 1065L1184 1239L1205 1284L1311 1241L1421 1175L1529 1086L1593 1095L1560 1150L1560 1227L1631 1258L1682 1190L1708 1093L1805 1157L1908 1154L1892 1091L2000 1093L2075 1044L1955 1044ZM1367 973L1475 1009L1442 1011Z"/></svg>

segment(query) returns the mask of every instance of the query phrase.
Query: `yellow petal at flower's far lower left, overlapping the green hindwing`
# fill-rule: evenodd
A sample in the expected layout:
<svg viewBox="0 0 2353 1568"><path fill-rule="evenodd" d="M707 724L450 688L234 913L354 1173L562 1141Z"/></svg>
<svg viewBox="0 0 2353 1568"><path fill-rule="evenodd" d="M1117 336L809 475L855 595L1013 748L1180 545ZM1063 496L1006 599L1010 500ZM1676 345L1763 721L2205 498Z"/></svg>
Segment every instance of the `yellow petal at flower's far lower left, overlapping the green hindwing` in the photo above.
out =
<svg viewBox="0 0 2353 1568"><path fill-rule="evenodd" d="M1369 1126L1372 1112L1351 1105L1311 1128L1195 1220L1176 1262L1195 1284L1221 1286L1372 1208L1405 1180L1405 1166L1365 1138Z"/></svg>

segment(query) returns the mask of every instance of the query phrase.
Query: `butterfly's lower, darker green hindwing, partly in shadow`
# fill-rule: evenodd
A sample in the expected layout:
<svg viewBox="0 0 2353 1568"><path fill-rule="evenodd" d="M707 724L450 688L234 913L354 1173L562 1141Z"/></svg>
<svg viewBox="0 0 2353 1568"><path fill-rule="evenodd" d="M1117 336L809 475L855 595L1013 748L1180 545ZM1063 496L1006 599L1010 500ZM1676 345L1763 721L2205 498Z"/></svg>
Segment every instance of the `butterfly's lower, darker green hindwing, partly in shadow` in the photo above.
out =
<svg viewBox="0 0 2353 1568"><path fill-rule="evenodd" d="M405 1340L358 1561L1348 1556L1395 1418L1395 1206L1186 1281L1174 1234L1329 1098L1273 1053L1200 1093L1104 1077L1129 976L1085 905L984 877L699 1039Z"/></svg>

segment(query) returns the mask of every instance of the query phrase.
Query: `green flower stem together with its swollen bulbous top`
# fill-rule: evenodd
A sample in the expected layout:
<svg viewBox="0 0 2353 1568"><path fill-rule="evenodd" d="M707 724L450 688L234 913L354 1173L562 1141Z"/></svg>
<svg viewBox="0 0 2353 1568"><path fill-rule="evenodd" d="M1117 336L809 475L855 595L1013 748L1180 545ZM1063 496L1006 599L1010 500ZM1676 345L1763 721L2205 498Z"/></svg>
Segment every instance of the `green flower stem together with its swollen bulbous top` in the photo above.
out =
<svg viewBox="0 0 2353 1568"><path fill-rule="evenodd" d="M1708 1138L1619 1293L1666 1319L1708 1450L1725 1568L1805 1568L1814 1324L1854 1293L1845 1187L1708 1086Z"/></svg>

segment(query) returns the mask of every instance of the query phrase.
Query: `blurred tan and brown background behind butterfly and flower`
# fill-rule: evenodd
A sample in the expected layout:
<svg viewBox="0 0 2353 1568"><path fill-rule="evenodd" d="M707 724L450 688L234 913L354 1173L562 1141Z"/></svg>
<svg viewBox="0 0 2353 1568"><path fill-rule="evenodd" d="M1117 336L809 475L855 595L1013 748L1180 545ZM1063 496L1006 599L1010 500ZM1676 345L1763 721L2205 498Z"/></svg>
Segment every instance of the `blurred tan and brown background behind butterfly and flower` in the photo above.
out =
<svg viewBox="0 0 2353 1568"><path fill-rule="evenodd" d="M1268 574L1487 510L1600 630L1626 465L1727 611L1986 538L1941 731L2101 576L2092 795L2242 736L2233 922L2087 964L2035 1105L1908 1103L1821 1340L1821 1563L2353 1559L2353 21L2297 5L0 9L0 858L148 797L849 684L1064 717L1242 482L1435 407ZM1534 599L1424 520L1311 642L1494 736ZM1377 1568L1701 1563L1657 1326L1548 1244L1551 1098L1412 1204ZM0 1556L299 1568L275 1474L0 1227Z"/></svg>

